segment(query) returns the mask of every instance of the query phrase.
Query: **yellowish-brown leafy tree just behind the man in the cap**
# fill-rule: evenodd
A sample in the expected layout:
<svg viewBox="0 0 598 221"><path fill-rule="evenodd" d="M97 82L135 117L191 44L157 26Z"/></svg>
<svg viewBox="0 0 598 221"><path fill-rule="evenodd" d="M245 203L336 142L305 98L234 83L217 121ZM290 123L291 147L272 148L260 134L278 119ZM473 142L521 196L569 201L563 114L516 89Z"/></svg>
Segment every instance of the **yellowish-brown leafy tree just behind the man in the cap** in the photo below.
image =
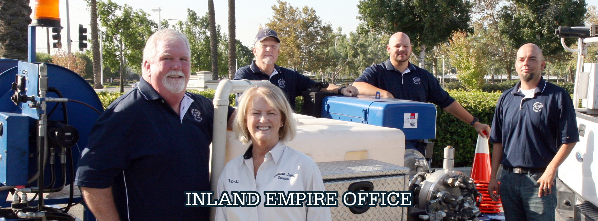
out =
<svg viewBox="0 0 598 221"><path fill-rule="evenodd" d="M324 70L332 65L325 48L330 44L329 23L324 23L313 8L292 7L277 0L272 7L274 15L266 26L275 30L280 38L280 55L277 65L291 67L300 73Z"/></svg>

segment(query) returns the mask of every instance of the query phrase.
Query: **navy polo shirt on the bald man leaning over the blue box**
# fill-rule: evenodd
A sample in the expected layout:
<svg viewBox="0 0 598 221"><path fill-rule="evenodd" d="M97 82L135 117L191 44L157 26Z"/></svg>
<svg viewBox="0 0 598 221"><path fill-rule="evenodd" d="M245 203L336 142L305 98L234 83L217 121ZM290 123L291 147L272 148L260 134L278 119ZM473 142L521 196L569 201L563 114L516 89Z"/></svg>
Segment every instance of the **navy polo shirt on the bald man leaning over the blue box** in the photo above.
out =
<svg viewBox="0 0 598 221"><path fill-rule="evenodd" d="M416 102L434 103L446 108L454 102L453 97L438 84L438 79L428 70L409 63L409 72L401 73L392 66L390 59L372 65L355 79L374 87L388 91L396 99L414 100Z"/></svg>

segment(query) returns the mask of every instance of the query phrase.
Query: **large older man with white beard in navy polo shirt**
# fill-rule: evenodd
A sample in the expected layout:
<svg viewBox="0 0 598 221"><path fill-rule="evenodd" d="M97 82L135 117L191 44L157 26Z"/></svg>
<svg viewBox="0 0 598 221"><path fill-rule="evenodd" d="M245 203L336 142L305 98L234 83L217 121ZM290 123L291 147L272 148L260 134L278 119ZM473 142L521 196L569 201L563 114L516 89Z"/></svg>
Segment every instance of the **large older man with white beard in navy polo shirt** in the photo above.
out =
<svg viewBox="0 0 598 221"><path fill-rule="evenodd" d="M210 190L213 125L212 101L185 91L190 55L181 33L155 32L139 86L94 124L75 185L97 220L208 219L208 208L184 207L184 191Z"/></svg>

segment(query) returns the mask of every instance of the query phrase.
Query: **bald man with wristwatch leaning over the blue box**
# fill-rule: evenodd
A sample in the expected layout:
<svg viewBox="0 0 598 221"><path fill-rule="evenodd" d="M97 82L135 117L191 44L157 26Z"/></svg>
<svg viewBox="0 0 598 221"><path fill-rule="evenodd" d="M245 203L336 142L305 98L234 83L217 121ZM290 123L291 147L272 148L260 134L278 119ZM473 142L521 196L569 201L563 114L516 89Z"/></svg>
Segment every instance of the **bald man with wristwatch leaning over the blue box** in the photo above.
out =
<svg viewBox="0 0 598 221"><path fill-rule="evenodd" d="M381 97L431 102L471 125L482 136L483 131L490 134L489 125L478 122L478 118L459 105L440 87L434 75L409 63L411 48L411 41L405 33L396 32L390 36L386 45L390 59L368 67L353 82L359 94L374 96L380 92ZM419 140L405 140L405 148L422 152L423 148L418 143Z"/></svg>

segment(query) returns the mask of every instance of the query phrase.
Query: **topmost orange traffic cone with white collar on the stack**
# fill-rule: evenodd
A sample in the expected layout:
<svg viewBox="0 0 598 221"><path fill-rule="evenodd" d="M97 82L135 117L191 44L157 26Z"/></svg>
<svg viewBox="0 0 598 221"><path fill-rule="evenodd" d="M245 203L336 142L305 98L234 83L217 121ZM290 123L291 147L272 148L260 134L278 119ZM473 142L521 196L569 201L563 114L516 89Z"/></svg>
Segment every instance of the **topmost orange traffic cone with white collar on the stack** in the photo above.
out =
<svg viewBox="0 0 598 221"><path fill-rule="evenodd" d="M490 148L488 139L478 135L478 143L475 145L474 165L471 167L471 179L489 182L490 181Z"/></svg>

